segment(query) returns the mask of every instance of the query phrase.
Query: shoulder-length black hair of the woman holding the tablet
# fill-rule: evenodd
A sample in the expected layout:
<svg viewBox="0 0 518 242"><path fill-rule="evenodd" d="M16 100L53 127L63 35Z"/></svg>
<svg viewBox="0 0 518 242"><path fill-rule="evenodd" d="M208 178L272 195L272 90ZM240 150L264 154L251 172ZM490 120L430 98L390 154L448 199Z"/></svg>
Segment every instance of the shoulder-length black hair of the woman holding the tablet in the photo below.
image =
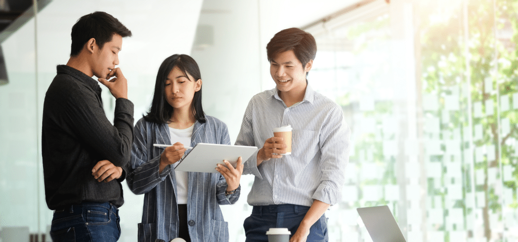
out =
<svg viewBox="0 0 518 242"><path fill-rule="evenodd" d="M153 94L153 101L147 115L143 116L148 122L154 123L168 123L172 116L173 107L167 103L165 94L165 83L167 76L171 70L178 67L186 77L189 78L186 73L189 73L193 78L193 82L198 79L202 79L198 64L196 61L188 55L175 54L167 57L160 65L159 72L156 74L155 90ZM194 118L200 123L205 123L205 112L202 107L202 88L194 93L193 102L191 104L191 110Z"/></svg>

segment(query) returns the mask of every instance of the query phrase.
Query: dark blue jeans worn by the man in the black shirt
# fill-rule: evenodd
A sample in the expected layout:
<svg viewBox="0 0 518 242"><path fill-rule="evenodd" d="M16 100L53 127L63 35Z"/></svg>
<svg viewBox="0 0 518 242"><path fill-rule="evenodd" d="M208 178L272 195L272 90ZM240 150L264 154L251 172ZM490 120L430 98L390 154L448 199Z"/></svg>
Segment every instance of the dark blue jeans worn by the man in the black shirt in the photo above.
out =
<svg viewBox="0 0 518 242"><path fill-rule="evenodd" d="M115 242L121 236L119 209L109 202L83 202L54 211L50 237L54 242Z"/></svg>

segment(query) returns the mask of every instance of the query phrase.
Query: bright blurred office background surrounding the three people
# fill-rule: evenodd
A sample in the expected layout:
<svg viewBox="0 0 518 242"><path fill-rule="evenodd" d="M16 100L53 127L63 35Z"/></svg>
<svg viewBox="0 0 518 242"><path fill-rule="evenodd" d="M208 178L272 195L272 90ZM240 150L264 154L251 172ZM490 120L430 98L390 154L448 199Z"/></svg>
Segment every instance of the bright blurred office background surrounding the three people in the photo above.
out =
<svg viewBox="0 0 518 242"><path fill-rule="evenodd" d="M0 240L50 240L41 112L70 30L106 11L132 30L120 68L135 121L150 106L160 63L198 62L207 115L234 142L250 98L275 87L266 44L311 33L309 84L335 100L352 130L342 200L329 241L372 241L357 207L389 205L407 241L518 241L518 2L515 0L0 0ZM106 113L114 99L102 87ZM222 206L243 241L252 175ZM143 196L124 187L120 241L137 240Z"/></svg>

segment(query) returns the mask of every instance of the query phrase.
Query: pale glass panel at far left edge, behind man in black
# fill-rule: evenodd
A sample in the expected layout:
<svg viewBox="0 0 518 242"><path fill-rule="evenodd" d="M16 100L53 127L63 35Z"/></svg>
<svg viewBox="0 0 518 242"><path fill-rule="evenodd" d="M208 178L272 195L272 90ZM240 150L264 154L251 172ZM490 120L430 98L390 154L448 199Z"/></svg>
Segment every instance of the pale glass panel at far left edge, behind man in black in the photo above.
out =
<svg viewBox="0 0 518 242"><path fill-rule="evenodd" d="M39 196L43 186L34 19L1 44L9 82L0 86L0 237L28 241L29 233L40 229L39 204L45 202Z"/></svg>

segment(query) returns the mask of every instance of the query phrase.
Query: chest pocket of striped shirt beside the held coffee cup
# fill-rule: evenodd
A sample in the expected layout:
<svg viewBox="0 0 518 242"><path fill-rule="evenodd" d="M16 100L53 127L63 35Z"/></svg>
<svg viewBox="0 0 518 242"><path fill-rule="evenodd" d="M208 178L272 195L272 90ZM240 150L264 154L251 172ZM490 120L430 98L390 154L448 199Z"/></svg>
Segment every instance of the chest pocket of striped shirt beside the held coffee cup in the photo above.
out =
<svg viewBox="0 0 518 242"><path fill-rule="evenodd" d="M293 130L292 154L297 160L309 163L319 150L319 133L312 130Z"/></svg>

